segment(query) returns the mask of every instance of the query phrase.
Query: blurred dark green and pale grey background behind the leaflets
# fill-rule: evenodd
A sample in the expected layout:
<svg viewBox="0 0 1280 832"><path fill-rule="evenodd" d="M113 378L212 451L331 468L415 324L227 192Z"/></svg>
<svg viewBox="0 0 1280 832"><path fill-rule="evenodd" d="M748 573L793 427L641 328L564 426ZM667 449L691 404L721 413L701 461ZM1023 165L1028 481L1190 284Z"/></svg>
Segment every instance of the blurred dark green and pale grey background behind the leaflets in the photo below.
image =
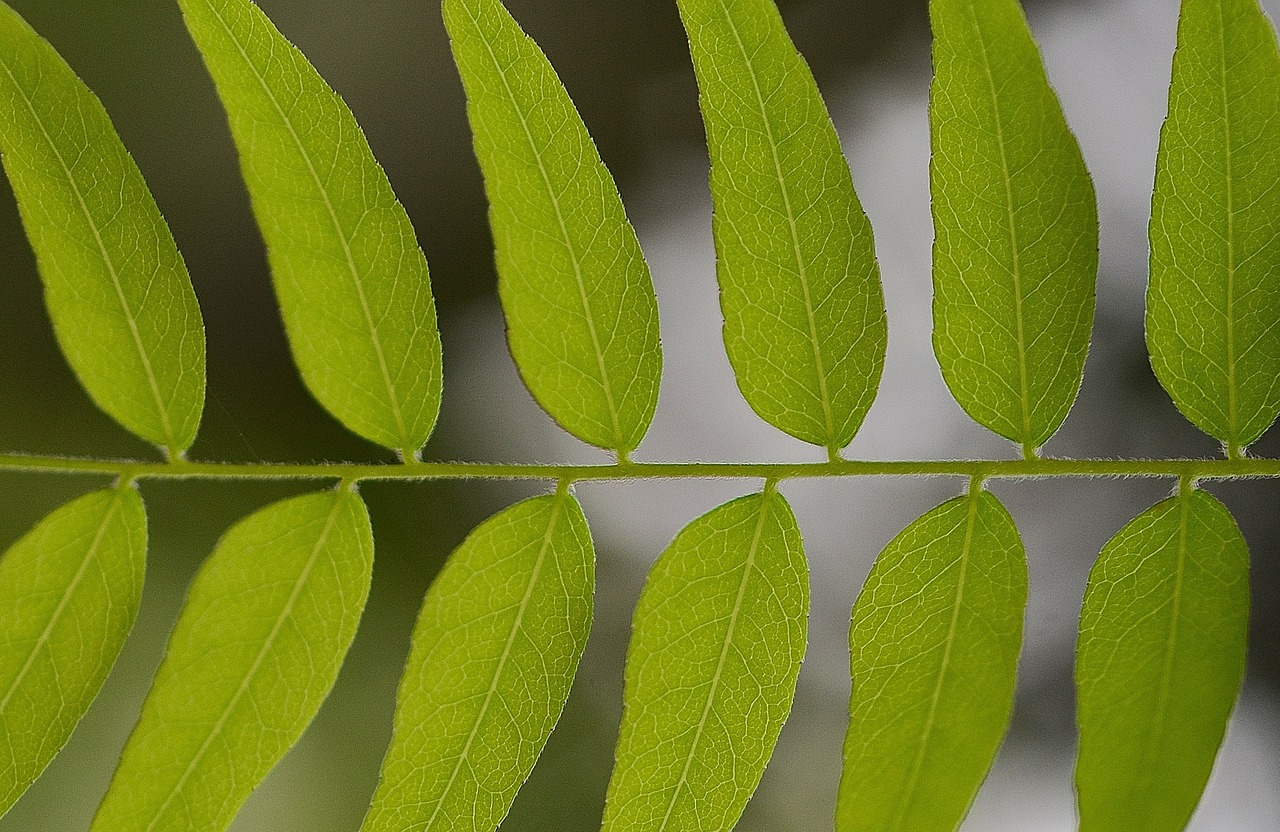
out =
<svg viewBox="0 0 1280 832"><path fill-rule="evenodd" d="M186 255L209 333L209 402L195 460L392 461L308 397L289 361L265 255L212 86L173 0L8 0L105 102ZM605 461L559 431L518 381L494 296L484 192L462 88L435 0L259 0L355 110L431 264L445 352L429 460ZM653 268L666 370L635 457L820 460L759 421L719 340L707 159L675 0L507 0L558 68L618 178ZM1280 0L1265 0L1272 18ZM781 0L818 77L877 232L890 316L881 396L855 458L1014 457L960 411L929 347L929 41L925 0ZM1165 113L1175 0L1028 4L1050 78L1100 201L1093 346L1053 456L1213 456L1152 376L1142 334L1146 224ZM61 361L35 262L0 184L0 449L154 458L92 406ZM1280 456L1280 429L1256 447ZM101 480L0 475L0 544ZM792 718L740 829L832 824L849 698L852 600L879 549L960 492L946 480L787 483L812 563L809 655ZM0 832L84 829L137 717L184 588L236 520L306 484L142 486L151 517L147 591L102 696ZM630 616L645 570L695 516L753 483L581 486L599 553L596 621L570 707L503 829L599 827L621 713ZM536 488L370 484L378 566L338 686L233 829L351 831L372 794L399 667L421 598L480 520ZM1088 568L1121 525L1170 490L1143 480L995 483L1030 559L1032 599L1012 728L964 829L1068 831L1071 658ZM1198 832L1280 828L1280 484L1211 485L1249 540L1248 678Z"/></svg>

